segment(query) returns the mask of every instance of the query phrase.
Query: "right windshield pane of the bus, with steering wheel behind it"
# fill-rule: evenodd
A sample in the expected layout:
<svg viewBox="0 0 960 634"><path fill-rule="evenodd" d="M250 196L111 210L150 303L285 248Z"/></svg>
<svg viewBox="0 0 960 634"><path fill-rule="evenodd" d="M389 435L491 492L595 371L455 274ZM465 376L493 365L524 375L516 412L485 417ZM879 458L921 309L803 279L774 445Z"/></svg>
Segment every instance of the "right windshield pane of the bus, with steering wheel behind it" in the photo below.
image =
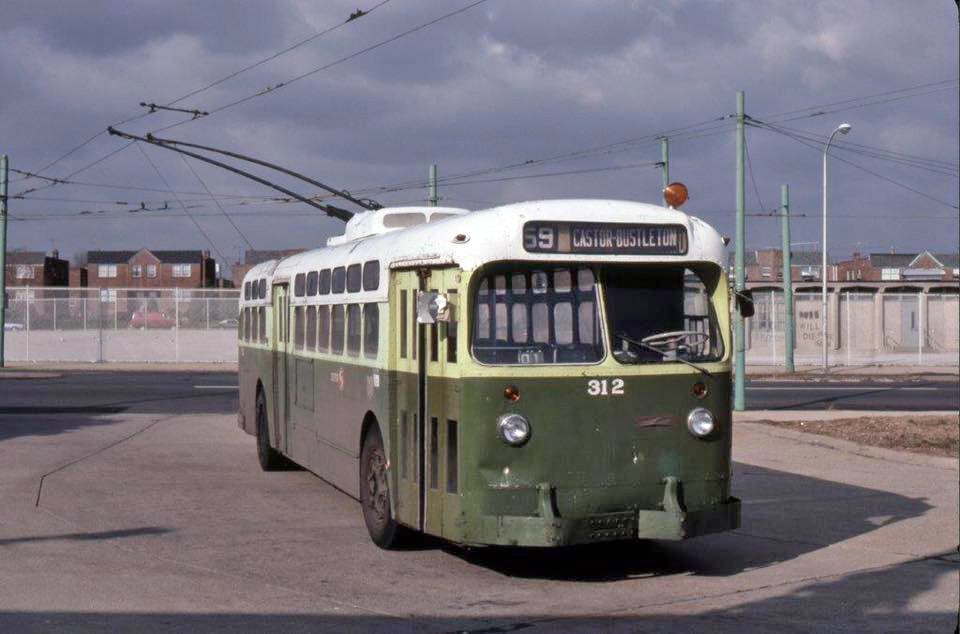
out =
<svg viewBox="0 0 960 634"><path fill-rule="evenodd" d="M607 328L620 363L716 361L723 340L710 291L696 271L680 267L606 267Z"/></svg>

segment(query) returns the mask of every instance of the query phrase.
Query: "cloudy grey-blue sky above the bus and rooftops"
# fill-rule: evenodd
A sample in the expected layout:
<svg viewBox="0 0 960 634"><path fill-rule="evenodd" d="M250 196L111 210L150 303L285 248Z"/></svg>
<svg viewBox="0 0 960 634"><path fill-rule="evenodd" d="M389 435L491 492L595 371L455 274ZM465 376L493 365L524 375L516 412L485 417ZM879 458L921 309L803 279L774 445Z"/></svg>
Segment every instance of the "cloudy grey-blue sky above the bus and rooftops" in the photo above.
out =
<svg viewBox="0 0 960 634"><path fill-rule="evenodd" d="M686 210L732 235L730 115L743 90L755 123L747 208L769 212L789 184L795 249L819 249L823 143L849 121L831 150L831 255L957 250L953 0L487 0L388 41L471 4L7 0L0 150L14 169L68 181L11 173L10 193L26 193L10 201L9 246L68 257L207 248L232 262L248 244L315 246L339 233L338 221L256 183L104 132L146 113L140 102L211 114L155 112L118 127L179 123L157 135L384 204L425 201L431 162L452 206L657 203L666 134L671 179L691 190ZM374 10L343 24L357 8ZM779 220L746 226L748 248L779 245Z"/></svg>

